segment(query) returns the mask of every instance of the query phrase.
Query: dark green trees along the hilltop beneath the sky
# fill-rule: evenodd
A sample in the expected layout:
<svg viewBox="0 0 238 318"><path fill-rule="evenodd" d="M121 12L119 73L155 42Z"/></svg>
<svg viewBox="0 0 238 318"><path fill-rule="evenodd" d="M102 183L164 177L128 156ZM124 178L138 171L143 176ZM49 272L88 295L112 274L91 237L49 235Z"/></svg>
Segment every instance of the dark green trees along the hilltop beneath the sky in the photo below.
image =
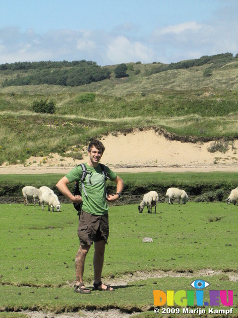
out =
<svg viewBox="0 0 238 318"><path fill-rule="evenodd" d="M147 75L161 73L168 70L188 69L207 64L208 67L204 71L204 77L208 77L212 75L212 69L220 68L227 63L235 61L237 58L238 54L233 57L232 53L222 53L211 56L204 55L199 59L180 61L171 64L158 63L158 66L156 65L155 68ZM157 64L157 62L153 62L153 64ZM119 64L114 69L115 77L128 77L129 75L126 73L127 70L128 67L125 63ZM17 73L15 78L5 79L2 83L3 87L40 84L80 86L94 81L110 79L110 70L107 67L101 67L98 66L96 62L85 60L72 62L42 61L15 62L11 64L5 63L0 65L0 71L21 71L20 73Z"/></svg>

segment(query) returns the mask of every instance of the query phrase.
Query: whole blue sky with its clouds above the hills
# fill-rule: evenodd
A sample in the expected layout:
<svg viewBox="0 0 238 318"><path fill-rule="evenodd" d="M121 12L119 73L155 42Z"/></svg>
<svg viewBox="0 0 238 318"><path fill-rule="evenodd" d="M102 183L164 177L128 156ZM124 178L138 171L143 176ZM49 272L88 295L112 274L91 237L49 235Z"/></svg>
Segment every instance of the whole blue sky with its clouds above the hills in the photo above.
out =
<svg viewBox="0 0 238 318"><path fill-rule="evenodd" d="M0 0L0 64L238 53L238 0Z"/></svg>

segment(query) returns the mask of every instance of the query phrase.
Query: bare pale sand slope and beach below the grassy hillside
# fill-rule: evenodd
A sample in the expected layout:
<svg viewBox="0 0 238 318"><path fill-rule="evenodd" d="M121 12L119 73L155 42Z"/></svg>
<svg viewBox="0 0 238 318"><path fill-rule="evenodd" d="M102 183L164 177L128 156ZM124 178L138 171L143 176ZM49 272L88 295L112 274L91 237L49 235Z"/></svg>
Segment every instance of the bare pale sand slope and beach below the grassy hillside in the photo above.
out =
<svg viewBox="0 0 238 318"><path fill-rule="evenodd" d="M208 152L211 142L170 141L154 130L108 135L101 141L106 147L101 161L115 172L238 171L238 141L233 147L230 145L225 154ZM83 160L75 161L61 158L58 154L51 154L46 160L43 157L31 157L25 166L2 164L0 173L67 173L86 160L86 154Z"/></svg>

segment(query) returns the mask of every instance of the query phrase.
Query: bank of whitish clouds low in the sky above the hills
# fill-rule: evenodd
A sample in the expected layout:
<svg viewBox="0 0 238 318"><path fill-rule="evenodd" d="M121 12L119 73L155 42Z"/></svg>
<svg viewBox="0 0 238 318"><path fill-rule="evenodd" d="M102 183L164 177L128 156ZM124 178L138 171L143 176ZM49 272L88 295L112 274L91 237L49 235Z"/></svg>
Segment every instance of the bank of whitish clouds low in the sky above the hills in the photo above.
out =
<svg viewBox="0 0 238 318"><path fill-rule="evenodd" d="M51 29L40 34L34 28L25 32L19 27L0 28L0 64L87 60L103 66L137 61L171 63L226 52L235 55L238 2L224 1L228 2L230 5L214 10L209 20L198 22L188 16L183 23L168 22L164 27L158 27L158 22L154 31L146 31L152 28L143 28L143 22L134 24L129 15L108 31Z"/></svg>

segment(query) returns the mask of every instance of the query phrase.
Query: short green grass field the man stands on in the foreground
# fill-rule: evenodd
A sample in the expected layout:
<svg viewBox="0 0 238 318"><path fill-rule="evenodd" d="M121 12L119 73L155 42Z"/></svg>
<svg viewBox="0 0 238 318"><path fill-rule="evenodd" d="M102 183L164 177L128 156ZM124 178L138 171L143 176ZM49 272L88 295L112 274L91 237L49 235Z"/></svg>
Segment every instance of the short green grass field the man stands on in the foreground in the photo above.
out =
<svg viewBox="0 0 238 318"><path fill-rule="evenodd" d="M208 281L207 290L233 290L238 315L238 287L230 279L231 273L238 272L237 206L161 203L156 214L145 210L139 214L137 205L111 207L103 279L116 291L90 295L73 293L78 238L71 204L63 204L61 213L43 212L33 205L1 204L0 218L0 317L9 317L7 311L13 309L60 312L83 308L138 312L147 308L138 317L154 317L153 290L191 290L195 279ZM144 237L153 242L143 243ZM85 264L88 287L93 284L92 264L93 247ZM204 269L214 274L200 276ZM169 274L158 276L158 271ZM140 276L121 283L119 279L126 280L131 273ZM204 290L204 301L207 297Z"/></svg>

